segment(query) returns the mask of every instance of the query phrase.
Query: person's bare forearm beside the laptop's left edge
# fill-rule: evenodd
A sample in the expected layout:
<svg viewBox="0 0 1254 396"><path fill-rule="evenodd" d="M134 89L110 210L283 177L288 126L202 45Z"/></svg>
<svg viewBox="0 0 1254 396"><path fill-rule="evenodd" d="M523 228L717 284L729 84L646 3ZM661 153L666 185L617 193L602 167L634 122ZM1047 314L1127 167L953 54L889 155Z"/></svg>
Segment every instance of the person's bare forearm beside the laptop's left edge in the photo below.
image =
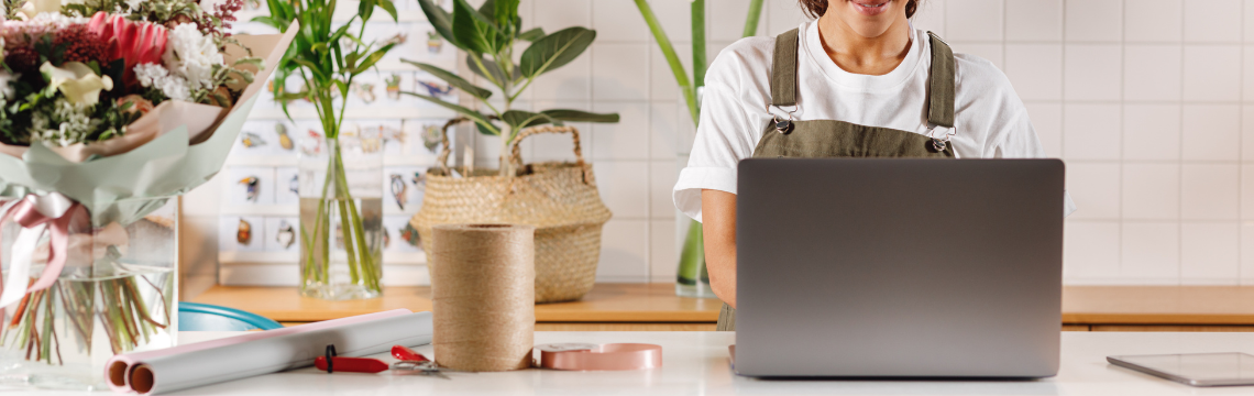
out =
<svg viewBox="0 0 1254 396"><path fill-rule="evenodd" d="M705 234L706 271L715 296L736 307L736 194L701 190L701 232Z"/></svg>

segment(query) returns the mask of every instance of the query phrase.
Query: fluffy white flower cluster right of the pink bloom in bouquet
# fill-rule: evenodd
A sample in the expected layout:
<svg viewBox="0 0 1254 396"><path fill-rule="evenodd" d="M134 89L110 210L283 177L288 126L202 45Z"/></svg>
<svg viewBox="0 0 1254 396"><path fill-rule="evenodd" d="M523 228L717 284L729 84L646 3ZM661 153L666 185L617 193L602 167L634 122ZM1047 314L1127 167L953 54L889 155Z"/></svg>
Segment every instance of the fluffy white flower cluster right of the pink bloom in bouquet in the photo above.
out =
<svg viewBox="0 0 1254 396"><path fill-rule="evenodd" d="M188 88L193 91L217 88L213 66L226 65L213 38L201 34L196 24L179 24L169 31L162 61L172 74L187 79Z"/></svg>

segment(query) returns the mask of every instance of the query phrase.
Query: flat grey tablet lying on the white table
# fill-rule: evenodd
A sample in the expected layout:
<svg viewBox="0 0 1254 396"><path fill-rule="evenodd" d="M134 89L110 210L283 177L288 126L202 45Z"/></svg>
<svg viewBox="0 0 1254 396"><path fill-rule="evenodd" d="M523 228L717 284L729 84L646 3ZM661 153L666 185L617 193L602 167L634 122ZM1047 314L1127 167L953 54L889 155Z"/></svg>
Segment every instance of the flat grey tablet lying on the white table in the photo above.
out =
<svg viewBox="0 0 1254 396"><path fill-rule="evenodd" d="M1106 361L1191 386L1254 385L1254 355L1249 353L1107 356Z"/></svg>

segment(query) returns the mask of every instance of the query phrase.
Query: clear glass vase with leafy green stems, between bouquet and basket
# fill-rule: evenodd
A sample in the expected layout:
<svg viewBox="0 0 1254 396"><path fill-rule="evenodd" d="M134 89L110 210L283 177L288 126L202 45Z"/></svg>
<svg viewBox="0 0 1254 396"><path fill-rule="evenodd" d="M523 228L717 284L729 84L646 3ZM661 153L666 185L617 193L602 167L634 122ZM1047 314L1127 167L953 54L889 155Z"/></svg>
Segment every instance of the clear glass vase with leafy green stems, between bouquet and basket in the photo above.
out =
<svg viewBox="0 0 1254 396"><path fill-rule="evenodd" d="M344 125L345 103L357 76L371 70L396 41L362 41L366 21L380 9L396 21L391 0L362 0L347 21L334 21L336 1L268 0L270 15L255 18L280 30L300 23L275 70L275 99L314 104L322 142L302 145L301 293L326 300L371 298L382 293L382 153L369 144L381 137ZM287 91L288 76L302 85Z"/></svg>

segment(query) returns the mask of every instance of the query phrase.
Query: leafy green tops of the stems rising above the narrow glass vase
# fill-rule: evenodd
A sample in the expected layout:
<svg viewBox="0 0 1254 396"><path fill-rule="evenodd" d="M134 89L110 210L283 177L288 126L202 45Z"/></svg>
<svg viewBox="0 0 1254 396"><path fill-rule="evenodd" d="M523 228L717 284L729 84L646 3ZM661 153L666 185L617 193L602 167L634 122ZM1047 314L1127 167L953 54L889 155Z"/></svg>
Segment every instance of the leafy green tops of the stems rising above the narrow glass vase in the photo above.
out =
<svg viewBox="0 0 1254 396"><path fill-rule="evenodd" d="M361 39L375 9L396 21L391 0L362 0L347 21L334 20L336 4L336 0L268 0L270 15L253 19L280 31L300 23L301 30L275 69L275 99L282 103L285 113L291 100L312 102L327 139L339 137L344 100L354 79L372 69L398 44ZM290 75L298 75L303 86L290 93L285 86ZM291 113L287 114L290 118Z"/></svg>

